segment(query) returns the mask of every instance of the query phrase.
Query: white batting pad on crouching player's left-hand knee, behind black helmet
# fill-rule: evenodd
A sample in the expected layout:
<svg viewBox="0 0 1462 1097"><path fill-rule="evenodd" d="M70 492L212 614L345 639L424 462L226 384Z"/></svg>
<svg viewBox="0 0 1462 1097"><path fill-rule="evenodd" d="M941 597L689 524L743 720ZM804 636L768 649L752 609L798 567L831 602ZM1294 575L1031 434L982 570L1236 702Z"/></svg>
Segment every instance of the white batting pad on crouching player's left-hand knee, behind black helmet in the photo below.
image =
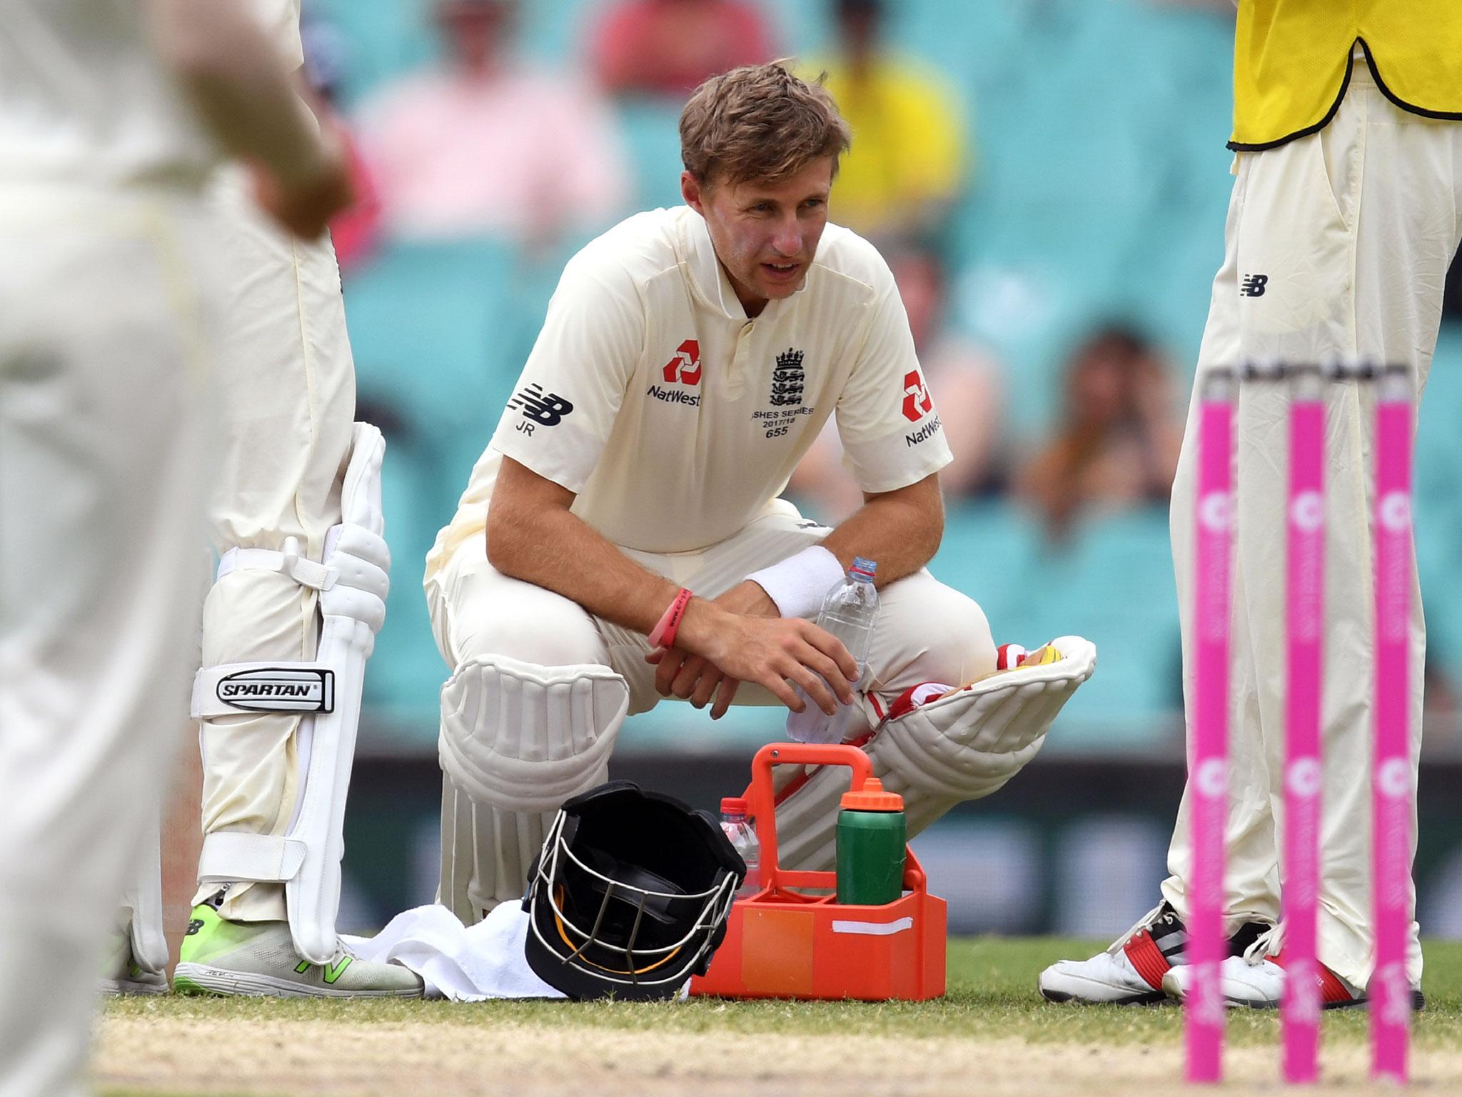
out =
<svg viewBox="0 0 1462 1097"><path fill-rule="evenodd" d="M459 919L522 898L560 804L607 778L629 704L608 667L507 655L471 660L442 687L442 901Z"/></svg>

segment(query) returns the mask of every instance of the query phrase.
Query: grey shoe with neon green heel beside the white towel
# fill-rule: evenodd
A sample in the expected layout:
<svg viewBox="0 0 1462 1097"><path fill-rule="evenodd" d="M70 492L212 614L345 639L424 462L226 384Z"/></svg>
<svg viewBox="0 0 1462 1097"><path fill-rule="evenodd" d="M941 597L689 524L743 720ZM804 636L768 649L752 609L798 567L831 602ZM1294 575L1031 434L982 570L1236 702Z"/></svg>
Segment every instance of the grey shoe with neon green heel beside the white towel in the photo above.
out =
<svg viewBox="0 0 1462 1097"><path fill-rule="evenodd" d="M181 960L180 995L262 998L421 998L421 979L401 964L355 960L344 945L329 964L300 960L285 921L225 921L208 904L193 908Z"/></svg>

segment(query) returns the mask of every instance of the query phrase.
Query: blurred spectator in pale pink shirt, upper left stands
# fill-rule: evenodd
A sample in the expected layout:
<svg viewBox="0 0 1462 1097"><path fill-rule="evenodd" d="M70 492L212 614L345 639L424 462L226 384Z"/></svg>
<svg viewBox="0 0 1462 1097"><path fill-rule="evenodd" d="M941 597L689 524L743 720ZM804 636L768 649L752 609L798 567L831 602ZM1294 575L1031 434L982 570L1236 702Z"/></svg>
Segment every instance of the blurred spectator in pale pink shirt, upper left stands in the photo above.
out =
<svg viewBox="0 0 1462 1097"><path fill-rule="evenodd" d="M387 235L551 244L623 212L624 154L605 102L512 54L516 0L437 0L446 63L360 113Z"/></svg>

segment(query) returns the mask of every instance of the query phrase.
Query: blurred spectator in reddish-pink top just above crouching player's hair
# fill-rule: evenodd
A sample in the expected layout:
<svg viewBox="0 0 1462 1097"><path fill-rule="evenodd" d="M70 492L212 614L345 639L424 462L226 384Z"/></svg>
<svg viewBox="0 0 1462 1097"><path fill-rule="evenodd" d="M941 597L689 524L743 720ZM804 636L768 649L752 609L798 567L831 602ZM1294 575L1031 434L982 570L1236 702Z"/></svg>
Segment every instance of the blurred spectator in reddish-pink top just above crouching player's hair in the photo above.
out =
<svg viewBox="0 0 1462 1097"><path fill-rule="evenodd" d="M716 73L775 57L766 19L749 0L618 0L589 53L607 91L677 98Z"/></svg>

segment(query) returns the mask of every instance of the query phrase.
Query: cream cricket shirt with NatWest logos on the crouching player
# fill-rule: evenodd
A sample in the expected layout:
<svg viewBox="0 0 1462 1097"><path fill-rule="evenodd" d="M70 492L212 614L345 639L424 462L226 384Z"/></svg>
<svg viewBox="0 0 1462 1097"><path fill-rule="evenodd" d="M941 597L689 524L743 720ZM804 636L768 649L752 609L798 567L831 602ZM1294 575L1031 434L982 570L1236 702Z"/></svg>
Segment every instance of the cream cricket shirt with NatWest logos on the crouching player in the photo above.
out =
<svg viewBox="0 0 1462 1097"><path fill-rule="evenodd" d="M699 214L632 216L564 268L427 575L482 535L504 453L576 493L573 513L610 541L689 551L757 518L833 411L866 491L950 461L870 243L827 225L804 287L747 319Z"/></svg>

